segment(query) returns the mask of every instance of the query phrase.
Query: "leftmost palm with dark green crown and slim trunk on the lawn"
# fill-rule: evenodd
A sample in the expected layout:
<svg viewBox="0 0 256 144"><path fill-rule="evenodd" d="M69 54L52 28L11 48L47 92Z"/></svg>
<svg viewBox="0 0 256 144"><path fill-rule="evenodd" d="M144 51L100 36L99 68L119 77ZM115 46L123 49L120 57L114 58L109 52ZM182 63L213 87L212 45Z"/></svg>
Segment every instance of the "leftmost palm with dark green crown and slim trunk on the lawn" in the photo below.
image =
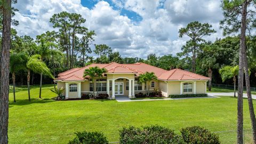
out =
<svg viewBox="0 0 256 144"><path fill-rule="evenodd" d="M26 67L26 55L24 53L11 53L10 55L10 73L12 73L12 83L13 83L13 102L15 99L15 73L25 69Z"/></svg>

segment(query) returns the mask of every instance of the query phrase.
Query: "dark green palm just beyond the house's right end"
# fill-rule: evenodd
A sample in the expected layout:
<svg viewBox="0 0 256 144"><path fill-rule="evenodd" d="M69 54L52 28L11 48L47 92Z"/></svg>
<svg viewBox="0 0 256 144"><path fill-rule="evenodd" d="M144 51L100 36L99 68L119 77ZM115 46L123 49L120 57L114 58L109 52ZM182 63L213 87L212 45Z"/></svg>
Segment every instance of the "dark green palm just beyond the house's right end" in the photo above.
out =
<svg viewBox="0 0 256 144"><path fill-rule="evenodd" d="M213 57L206 57L202 60L202 68L207 69L208 77L212 79L212 69L218 69L220 67L219 63L216 63L216 59ZM208 89L212 89L212 81L208 83Z"/></svg>

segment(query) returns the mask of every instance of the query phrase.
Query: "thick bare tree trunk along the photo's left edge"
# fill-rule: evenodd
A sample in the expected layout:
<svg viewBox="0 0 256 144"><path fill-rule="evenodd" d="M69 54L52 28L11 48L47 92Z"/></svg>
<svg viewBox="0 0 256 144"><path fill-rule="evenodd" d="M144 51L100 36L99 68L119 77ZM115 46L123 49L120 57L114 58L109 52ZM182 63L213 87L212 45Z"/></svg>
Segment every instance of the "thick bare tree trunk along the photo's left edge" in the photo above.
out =
<svg viewBox="0 0 256 144"><path fill-rule="evenodd" d="M3 0L3 33L0 59L0 144L8 143L9 63L11 46L11 0Z"/></svg>

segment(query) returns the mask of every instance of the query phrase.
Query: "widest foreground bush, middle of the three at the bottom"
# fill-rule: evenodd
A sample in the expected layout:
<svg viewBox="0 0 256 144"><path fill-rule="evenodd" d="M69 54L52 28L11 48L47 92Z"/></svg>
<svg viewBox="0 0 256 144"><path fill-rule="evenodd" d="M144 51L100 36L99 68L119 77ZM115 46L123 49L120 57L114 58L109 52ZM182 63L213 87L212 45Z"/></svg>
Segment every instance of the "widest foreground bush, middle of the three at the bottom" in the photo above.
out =
<svg viewBox="0 0 256 144"><path fill-rule="evenodd" d="M120 143L184 143L173 130L159 125L143 126L142 129L134 126L123 127L119 130L119 135Z"/></svg>

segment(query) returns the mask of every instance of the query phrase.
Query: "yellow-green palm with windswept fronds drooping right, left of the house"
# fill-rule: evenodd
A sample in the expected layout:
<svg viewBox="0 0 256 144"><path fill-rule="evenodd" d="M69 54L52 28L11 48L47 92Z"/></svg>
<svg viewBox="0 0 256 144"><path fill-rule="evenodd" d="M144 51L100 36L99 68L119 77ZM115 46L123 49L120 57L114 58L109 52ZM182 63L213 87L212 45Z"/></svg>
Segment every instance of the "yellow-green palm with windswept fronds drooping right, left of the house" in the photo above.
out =
<svg viewBox="0 0 256 144"><path fill-rule="evenodd" d="M28 85L28 100L30 100L30 71L33 71L37 74L44 74L53 78L50 69L46 66L46 64L42 61L41 55L35 54L28 58L26 63L28 75L27 75L27 85Z"/></svg>

